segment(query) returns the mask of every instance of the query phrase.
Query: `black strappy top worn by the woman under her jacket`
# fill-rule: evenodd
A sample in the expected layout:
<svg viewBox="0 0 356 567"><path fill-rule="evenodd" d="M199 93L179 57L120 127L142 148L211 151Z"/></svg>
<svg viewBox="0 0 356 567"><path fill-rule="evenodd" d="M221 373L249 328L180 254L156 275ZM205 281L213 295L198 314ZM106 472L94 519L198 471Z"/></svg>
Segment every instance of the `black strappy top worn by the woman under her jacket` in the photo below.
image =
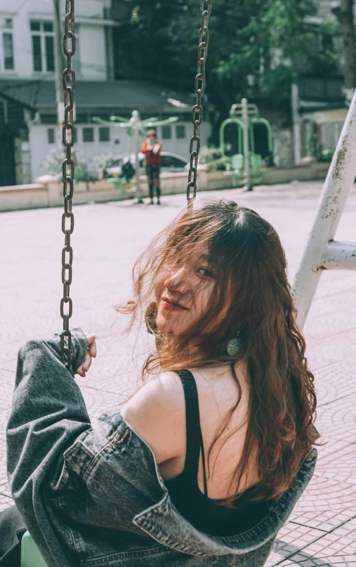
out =
<svg viewBox="0 0 356 567"><path fill-rule="evenodd" d="M208 497L204 443L199 417L199 398L195 378L189 370L178 370L185 396L187 453L183 472L165 481L173 504L192 526L210 535L237 535L255 526L268 512L266 502L242 502L233 508L217 504ZM198 485L199 457L202 454L204 494Z"/></svg>

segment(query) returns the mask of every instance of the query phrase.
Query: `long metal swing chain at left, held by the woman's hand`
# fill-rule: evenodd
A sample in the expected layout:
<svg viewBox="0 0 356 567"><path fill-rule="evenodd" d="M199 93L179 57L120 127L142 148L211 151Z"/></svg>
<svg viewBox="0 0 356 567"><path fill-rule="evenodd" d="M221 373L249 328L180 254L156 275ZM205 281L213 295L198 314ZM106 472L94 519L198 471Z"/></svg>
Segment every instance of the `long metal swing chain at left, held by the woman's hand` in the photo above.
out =
<svg viewBox="0 0 356 567"><path fill-rule="evenodd" d="M68 45L68 40L70 40L70 45ZM65 235L65 247L62 249L63 297L60 300L60 316L63 320L63 331L60 335L60 348L62 351L62 363L70 369L72 365L72 335L70 333L70 318L72 317L73 311L72 299L70 298L73 261L73 249L70 244L70 235L74 230L74 215L72 213L74 160L72 159L72 147L75 140L73 124L75 73L74 70L72 70L72 56L74 56L75 53L74 0L65 0L65 34L63 36L63 51L67 57L67 68L63 72L65 121L62 127L62 143L66 148L66 156L62 163L63 197L65 204L65 211L62 214L62 233ZM66 219L70 219L69 226L66 224ZM64 312L65 304L68 304L67 313Z"/></svg>

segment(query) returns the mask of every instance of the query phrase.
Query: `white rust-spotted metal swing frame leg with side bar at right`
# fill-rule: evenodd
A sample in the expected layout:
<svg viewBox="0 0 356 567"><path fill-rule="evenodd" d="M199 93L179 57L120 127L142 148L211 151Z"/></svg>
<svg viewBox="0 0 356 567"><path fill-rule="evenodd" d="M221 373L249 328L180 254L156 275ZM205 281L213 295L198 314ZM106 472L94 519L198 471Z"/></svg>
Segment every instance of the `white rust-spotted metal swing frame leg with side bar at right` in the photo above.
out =
<svg viewBox="0 0 356 567"><path fill-rule="evenodd" d="M356 269L356 245L334 242L336 228L356 174L356 93L352 98L319 201L315 221L293 285L298 325L303 327L325 269ZM346 257L347 256L347 257Z"/></svg>

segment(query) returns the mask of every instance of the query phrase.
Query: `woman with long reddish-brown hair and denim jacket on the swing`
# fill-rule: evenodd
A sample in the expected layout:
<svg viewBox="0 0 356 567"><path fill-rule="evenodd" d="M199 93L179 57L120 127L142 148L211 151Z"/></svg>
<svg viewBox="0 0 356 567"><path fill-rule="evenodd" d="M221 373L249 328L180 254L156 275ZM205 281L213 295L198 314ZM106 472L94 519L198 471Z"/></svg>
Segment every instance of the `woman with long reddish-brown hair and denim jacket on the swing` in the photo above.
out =
<svg viewBox="0 0 356 567"><path fill-rule="evenodd" d="M313 376L286 259L234 202L185 212L136 263L150 380L91 426L59 337L19 353L8 473L51 566L263 566L315 467ZM153 301L154 300L154 301ZM85 377L95 335L72 331ZM187 370L187 369L190 370Z"/></svg>

